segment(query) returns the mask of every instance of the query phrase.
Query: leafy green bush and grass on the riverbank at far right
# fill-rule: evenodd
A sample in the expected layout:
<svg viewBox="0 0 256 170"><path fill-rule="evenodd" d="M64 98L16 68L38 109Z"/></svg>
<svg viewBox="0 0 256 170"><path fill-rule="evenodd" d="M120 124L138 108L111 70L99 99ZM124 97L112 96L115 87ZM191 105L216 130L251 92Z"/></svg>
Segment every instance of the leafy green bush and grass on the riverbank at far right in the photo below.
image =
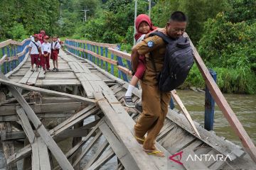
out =
<svg viewBox="0 0 256 170"><path fill-rule="evenodd" d="M235 8L206 21L198 52L218 73L220 89L255 94L256 2L231 2Z"/></svg>

